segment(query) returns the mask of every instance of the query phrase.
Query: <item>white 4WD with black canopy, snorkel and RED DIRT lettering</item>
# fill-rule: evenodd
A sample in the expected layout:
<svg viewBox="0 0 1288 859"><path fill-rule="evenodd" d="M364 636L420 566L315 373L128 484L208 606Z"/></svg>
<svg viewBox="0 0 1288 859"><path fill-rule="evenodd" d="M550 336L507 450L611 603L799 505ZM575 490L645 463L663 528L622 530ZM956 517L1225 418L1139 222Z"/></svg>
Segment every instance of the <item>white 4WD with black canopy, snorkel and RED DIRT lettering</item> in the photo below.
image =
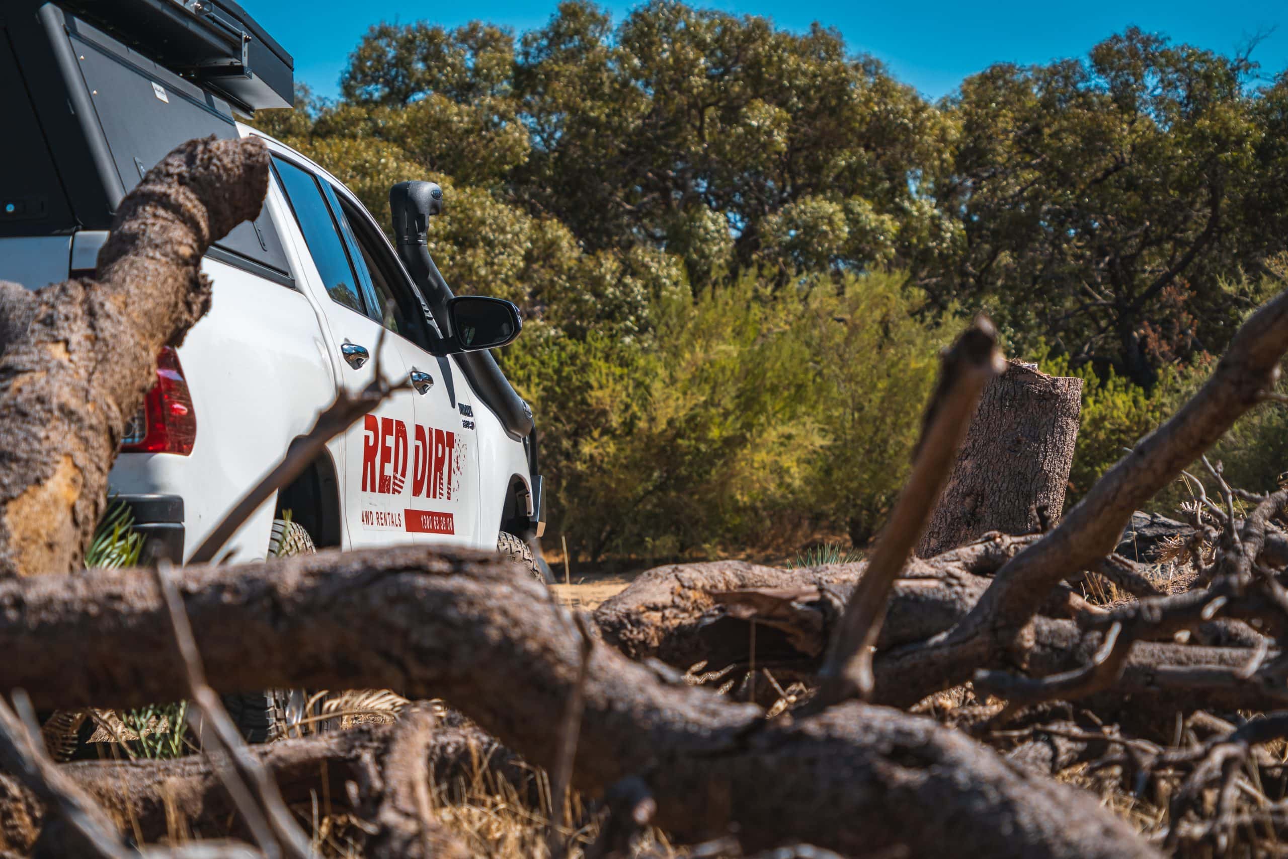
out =
<svg viewBox="0 0 1288 859"><path fill-rule="evenodd" d="M291 98L290 55L225 0L12 0L0 30L0 279L30 288L91 273L121 197L176 144L258 134L232 107ZM437 185L393 189L395 251L334 176L265 142L264 209L207 254L211 310L161 355L112 470L149 551L188 560L337 392L379 367L407 385L219 556L500 545L536 571L523 542L542 529L532 413L486 349L470 352L510 343L516 309L452 297L424 243Z"/></svg>

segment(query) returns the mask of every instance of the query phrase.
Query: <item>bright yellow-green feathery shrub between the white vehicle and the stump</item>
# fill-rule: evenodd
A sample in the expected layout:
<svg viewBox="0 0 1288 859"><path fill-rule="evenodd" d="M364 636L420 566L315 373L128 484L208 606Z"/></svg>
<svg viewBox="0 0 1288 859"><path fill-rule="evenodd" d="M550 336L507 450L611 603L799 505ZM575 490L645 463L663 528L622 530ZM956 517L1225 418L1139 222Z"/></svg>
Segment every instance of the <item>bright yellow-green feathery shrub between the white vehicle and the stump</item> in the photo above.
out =
<svg viewBox="0 0 1288 859"><path fill-rule="evenodd" d="M533 326L504 363L540 416L553 536L591 562L866 540L952 334L920 310L895 276L775 291L744 274L663 291L641 336Z"/></svg>

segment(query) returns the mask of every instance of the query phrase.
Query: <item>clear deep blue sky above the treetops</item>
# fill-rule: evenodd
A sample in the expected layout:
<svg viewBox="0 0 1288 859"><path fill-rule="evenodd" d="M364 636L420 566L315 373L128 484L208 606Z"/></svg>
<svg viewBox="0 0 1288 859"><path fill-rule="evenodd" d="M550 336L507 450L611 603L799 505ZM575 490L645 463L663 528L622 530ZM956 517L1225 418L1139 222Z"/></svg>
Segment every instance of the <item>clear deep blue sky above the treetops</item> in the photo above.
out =
<svg viewBox="0 0 1288 859"><path fill-rule="evenodd" d="M475 0L425 4L406 0L241 0L295 57L296 80L335 97L349 52L372 23L433 21L448 27L489 21L515 32L542 26L556 0L545 4ZM620 19L634 4L607 4ZM884 59L894 75L925 95L952 91L962 77L996 62L1042 63L1077 57L1105 36L1136 24L1224 53L1257 32L1275 28L1253 59L1264 73L1288 67L1288 3L1284 0L1139 0L1136 3L947 3L945 0L714 0L694 5L773 18L779 27L805 30L810 22L836 27L851 50Z"/></svg>

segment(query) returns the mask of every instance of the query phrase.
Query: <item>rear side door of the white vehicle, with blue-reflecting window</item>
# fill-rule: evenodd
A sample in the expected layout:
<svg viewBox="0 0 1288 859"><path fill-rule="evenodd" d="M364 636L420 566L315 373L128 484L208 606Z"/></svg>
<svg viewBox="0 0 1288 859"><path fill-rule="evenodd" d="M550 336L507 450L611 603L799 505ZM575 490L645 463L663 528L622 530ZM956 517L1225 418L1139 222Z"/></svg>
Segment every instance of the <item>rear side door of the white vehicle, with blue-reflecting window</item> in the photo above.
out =
<svg viewBox="0 0 1288 859"><path fill-rule="evenodd" d="M317 267L313 286L339 352L332 361L340 386L361 394L377 367L386 384L402 385L408 373L403 349L380 323L377 301L358 274L366 267L350 255L330 185L277 155L273 167ZM413 542L404 514L411 506L415 397L407 386L395 390L344 433L344 464L337 471L350 546Z"/></svg>

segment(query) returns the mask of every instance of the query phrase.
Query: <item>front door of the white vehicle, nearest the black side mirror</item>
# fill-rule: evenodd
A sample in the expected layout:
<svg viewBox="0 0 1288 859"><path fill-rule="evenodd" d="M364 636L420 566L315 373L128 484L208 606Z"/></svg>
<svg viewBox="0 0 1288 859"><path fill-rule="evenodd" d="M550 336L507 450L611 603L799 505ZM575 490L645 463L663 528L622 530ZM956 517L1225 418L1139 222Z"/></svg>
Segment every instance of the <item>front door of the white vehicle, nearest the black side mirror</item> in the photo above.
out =
<svg viewBox="0 0 1288 859"><path fill-rule="evenodd" d="M350 247L358 281L377 305L410 375L416 422L411 442L411 498L404 524L419 542L478 542L479 447L469 385L453 376L450 358L435 358L431 317L384 233L343 188L327 185Z"/></svg>

